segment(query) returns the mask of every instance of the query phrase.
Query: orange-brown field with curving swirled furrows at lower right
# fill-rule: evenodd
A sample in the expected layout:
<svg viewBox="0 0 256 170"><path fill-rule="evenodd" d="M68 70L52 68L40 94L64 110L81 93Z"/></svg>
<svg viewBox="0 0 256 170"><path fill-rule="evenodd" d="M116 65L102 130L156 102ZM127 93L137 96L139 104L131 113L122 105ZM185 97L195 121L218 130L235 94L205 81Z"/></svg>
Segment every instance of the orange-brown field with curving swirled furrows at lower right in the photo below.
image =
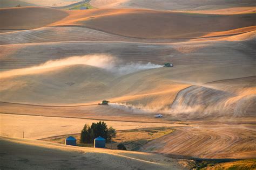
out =
<svg viewBox="0 0 256 170"><path fill-rule="evenodd" d="M255 125L195 125L150 141L142 151L198 158L255 158Z"/></svg>

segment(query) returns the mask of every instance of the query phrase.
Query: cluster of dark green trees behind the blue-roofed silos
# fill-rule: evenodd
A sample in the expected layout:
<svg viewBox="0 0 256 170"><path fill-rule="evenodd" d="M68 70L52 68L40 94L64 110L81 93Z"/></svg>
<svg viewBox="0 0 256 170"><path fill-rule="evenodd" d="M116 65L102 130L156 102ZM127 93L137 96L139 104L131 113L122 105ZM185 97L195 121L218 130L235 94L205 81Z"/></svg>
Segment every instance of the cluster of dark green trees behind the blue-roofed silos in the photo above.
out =
<svg viewBox="0 0 256 170"><path fill-rule="evenodd" d="M93 140L99 136L105 138L106 142L110 142L116 136L116 130L112 127L107 128L106 123L102 121L92 123L91 126L85 124L81 131L80 143L93 143Z"/></svg>

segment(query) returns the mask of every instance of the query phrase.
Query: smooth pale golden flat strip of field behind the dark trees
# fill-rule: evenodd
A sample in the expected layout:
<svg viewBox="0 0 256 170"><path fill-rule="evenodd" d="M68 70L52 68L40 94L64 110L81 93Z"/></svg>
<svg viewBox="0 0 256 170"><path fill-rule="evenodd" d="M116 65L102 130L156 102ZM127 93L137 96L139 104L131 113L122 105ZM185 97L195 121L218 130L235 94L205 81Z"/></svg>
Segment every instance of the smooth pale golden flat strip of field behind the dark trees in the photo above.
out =
<svg viewBox="0 0 256 170"><path fill-rule="evenodd" d="M25 116L0 114L1 136L23 137L26 139L42 139L64 134L80 133L85 124L99 122L93 119ZM74 123L75 122L75 123ZM116 130L157 128L175 126L170 123L143 123L143 122L118 122L104 121L107 125Z"/></svg>

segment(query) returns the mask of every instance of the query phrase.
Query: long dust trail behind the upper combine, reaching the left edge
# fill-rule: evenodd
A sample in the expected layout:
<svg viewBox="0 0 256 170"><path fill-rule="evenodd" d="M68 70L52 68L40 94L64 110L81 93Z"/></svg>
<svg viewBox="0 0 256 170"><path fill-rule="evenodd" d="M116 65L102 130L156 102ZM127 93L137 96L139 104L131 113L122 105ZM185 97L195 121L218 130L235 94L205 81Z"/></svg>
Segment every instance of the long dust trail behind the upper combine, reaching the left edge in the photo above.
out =
<svg viewBox="0 0 256 170"><path fill-rule="evenodd" d="M108 72L111 72L117 75L125 75L129 73L138 72L140 70L163 67L160 65L155 65L150 62L146 64L128 63L126 65L116 65L117 61L118 63L120 63L119 59L106 54L71 56L65 59L50 60L38 66L12 69L5 72L0 72L0 78L6 78L6 77L18 76L18 75L44 73L44 72L49 72L50 70L55 70L58 67L71 66L71 65L89 65L89 66L99 67L102 69L106 69Z"/></svg>

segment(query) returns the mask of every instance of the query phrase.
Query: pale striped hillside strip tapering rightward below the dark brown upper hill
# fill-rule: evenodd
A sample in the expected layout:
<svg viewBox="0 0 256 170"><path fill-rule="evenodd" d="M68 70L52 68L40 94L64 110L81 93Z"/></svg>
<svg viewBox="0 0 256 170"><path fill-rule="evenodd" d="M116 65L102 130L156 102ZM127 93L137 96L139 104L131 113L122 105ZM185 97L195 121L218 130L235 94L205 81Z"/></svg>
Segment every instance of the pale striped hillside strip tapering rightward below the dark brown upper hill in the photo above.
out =
<svg viewBox="0 0 256 170"><path fill-rule="evenodd" d="M12 30L13 31L13 30ZM9 32L6 30L6 32ZM1 33L1 32L0 32ZM14 38L15 37L15 38ZM60 41L126 41L126 42L153 42L167 43L184 40L172 39L141 39L118 36L103 31L76 26L52 26L39 29L25 30L0 34L0 44L24 44L35 42Z"/></svg>

